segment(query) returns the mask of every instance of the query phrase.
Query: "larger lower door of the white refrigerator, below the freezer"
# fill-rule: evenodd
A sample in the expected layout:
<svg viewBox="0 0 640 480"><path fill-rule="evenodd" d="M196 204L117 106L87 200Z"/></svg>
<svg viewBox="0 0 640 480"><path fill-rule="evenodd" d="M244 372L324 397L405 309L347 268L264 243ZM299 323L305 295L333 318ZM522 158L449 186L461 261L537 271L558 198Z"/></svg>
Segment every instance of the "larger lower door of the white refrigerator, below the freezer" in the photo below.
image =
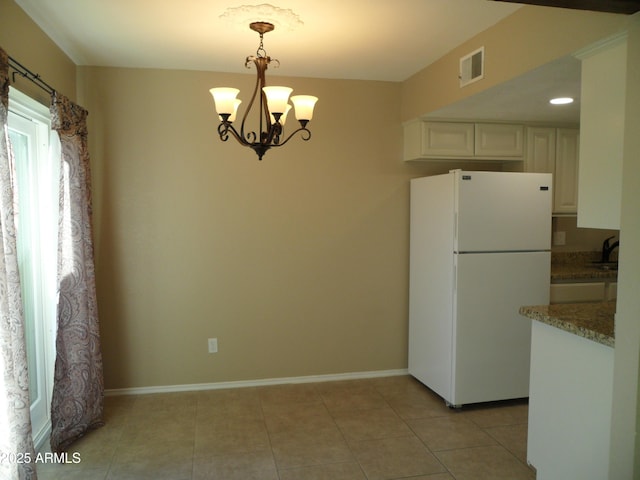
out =
<svg viewBox="0 0 640 480"><path fill-rule="evenodd" d="M455 256L454 405L527 397L531 320L523 305L549 303L550 252Z"/></svg>

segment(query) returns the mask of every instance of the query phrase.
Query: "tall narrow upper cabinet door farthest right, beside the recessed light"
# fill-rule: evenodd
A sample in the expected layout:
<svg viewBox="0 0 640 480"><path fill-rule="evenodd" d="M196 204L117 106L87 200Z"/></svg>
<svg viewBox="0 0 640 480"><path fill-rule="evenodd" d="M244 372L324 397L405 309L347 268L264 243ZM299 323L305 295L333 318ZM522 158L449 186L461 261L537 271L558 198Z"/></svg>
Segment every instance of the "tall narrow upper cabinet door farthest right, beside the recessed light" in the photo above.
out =
<svg viewBox="0 0 640 480"><path fill-rule="evenodd" d="M579 130L558 129L553 194L554 213L576 213L578 211L579 145Z"/></svg>

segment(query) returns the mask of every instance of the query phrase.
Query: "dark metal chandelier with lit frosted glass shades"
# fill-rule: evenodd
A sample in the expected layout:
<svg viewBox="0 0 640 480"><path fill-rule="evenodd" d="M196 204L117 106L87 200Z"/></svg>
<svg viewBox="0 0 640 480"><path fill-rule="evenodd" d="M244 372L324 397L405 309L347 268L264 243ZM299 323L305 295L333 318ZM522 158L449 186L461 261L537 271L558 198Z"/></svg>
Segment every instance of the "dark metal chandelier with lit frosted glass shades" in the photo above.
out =
<svg viewBox="0 0 640 480"><path fill-rule="evenodd" d="M258 155L258 159L262 160L267 150L283 146L298 132L300 132L300 137L305 141L311 138L311 131L307 128L307 124L313 117L313 107L318 98L311 95L294 95L291 97L295 116L300 123L300 127L291 132L289 136L285 136L284 125L287 113L291 109L289 95L293 90L289 87L281 86L267 87L265 80L265 72L269 64L271 62L275 62L276 66L280 64L278 60L272 59L267 55L263 46L264 34L272 31L274 26L268 22L253 22L249 25L249 28L260 35L260 45L255 56L247 57L245 67L250 68L253 63L256 66L257 79L249 106L242 117L239 131L234 126L234 122L238 113L238 106L242 103L241 100L236 98L240 90L237 88L218 87L209 91L213 95L216 112L220 119L220 125L218 125L220 140L226 142L229 136L232 136L241 145L252 148ZM259 130L257 132L253 130L246 131L245 122L256 98L260 111Z"/></svg>

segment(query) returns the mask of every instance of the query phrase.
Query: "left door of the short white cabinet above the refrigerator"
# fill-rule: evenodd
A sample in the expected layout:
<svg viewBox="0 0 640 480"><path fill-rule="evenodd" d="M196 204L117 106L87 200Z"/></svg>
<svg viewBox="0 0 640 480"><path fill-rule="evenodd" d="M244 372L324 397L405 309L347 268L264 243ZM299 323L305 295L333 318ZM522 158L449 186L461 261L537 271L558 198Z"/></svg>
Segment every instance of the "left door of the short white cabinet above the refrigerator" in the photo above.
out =
<svg viewBox="0 0 640 480"><path fill-rule="evenodd" d="M472 157L473 123L424 122L422 155Z"/></svg>

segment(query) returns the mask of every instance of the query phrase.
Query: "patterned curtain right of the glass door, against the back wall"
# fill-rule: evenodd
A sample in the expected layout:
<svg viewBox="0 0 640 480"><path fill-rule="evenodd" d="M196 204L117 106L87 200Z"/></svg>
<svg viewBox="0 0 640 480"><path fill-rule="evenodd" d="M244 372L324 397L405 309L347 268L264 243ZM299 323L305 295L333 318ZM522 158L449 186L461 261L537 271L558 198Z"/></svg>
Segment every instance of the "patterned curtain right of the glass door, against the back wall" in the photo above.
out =
<svg viewBox="0 0 640 480"><path fill-rule="evenodd" d="M58 332L51 402L51 448L61 452L103 425L104 383L96 304L88 112L58 93L52 129L62 149L58 238Z"/></svg>

